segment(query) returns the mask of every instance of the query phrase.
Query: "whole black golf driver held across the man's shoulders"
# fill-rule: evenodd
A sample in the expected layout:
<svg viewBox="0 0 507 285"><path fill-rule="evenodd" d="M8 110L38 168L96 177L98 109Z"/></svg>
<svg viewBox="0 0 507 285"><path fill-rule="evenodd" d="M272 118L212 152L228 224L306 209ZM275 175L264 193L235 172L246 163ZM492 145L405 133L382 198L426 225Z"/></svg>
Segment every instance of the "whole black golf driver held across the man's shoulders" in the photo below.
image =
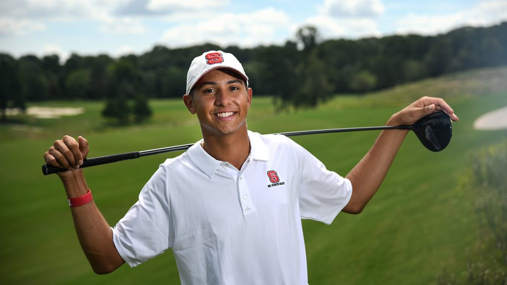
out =
<svg viewBox="0 0 507 285"><path fill-rule="evenodd" d="M277 133L285 136L297 136L306 134L319 134L319 133L335 133L335 132L352 132L352 131L365 131L365 130L389 130L389 129L405 129L413 130L416 136L421 141L422 145L428 150L439 152L447 147L452 136L451 119L443 112L433 113L422 117L413 125L400 125L400 126L382 126L382 127L359 127L359 128L341 128L341 129L324 129L324 130L309 130L309 131L295 131ZM160 149L153 149L140 152L129 152L122 154L113 154L106 156L99 156L87 158L83 160L80 168L90 167L95 165L113 163L128 159L139 158L143 156L169 153L175 151L184 151L189 149L194 144L181 145ZM51 173L67 171L65 168L60 168L48 164L42 166L44 175Z"/></svg>

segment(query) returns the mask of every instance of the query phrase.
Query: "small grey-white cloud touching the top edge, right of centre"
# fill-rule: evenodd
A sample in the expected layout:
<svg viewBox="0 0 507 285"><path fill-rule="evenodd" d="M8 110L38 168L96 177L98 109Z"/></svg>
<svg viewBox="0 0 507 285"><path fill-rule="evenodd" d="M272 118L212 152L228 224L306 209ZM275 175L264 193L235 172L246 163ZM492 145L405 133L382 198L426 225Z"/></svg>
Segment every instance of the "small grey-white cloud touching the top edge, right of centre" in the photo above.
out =
<svg viewBox="0 0 507 285"><path fill-rule="evenodd" d="M380 0L324 0L320 12L330 17L376 17L383 14Z"/></svg>

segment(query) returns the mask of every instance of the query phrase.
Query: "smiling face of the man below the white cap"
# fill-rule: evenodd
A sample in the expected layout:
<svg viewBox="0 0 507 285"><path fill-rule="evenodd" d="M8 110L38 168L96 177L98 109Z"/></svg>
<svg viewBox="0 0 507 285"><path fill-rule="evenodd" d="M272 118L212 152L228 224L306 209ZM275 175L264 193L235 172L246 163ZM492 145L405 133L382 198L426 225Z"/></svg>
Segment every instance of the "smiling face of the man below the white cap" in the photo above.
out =
<svg viewBox="0 0 507 285"><path fill-rule="evenodd" d="M214 69L194 85L192 96L183 100L197 114L203 137L208 135L246 134L246 114L251 105L251 88L229 69Z"/></svg>

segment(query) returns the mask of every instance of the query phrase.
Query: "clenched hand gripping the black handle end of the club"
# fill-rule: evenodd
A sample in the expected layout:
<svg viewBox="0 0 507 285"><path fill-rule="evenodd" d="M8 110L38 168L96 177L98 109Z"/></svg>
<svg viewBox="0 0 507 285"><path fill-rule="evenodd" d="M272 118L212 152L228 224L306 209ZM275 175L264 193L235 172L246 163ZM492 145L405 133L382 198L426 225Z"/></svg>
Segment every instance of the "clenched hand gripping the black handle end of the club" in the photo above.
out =
<svg viewBox="0 0 507 285"><path fill-rule="evenodd" d="M65 179L79 169L89 151L88 141L84 137L79 136L76 140L65 135L62 139L55 140L53 146L44 154L44 160L49 165L68 169L69 171L57 173L61 179Z"/></svg>

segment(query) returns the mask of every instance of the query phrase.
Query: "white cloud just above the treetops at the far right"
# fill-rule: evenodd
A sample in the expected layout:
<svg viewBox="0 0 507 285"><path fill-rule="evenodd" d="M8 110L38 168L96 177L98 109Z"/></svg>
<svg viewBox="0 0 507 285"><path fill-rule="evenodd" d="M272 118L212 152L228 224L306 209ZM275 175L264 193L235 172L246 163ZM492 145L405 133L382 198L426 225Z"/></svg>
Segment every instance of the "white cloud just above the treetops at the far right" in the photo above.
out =
<svg viewBox="0 0 507 285"><path fill-rule="evenodd" d="M396 21L397 33L436 34L460 26L487 26L507 20L507 1L482 1L468 10L446 15L410 13Z"/></svg>

